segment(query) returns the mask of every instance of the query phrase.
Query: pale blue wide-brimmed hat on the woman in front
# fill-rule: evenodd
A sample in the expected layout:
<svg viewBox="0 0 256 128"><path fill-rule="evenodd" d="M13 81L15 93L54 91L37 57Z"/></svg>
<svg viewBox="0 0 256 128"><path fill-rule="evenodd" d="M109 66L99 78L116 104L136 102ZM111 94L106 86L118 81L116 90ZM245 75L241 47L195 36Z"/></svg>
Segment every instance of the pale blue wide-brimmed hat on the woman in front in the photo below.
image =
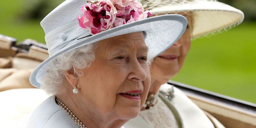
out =
<svg viewBox="0 0 256 128"><path fill-rule="evenodd" d="M113 1L117 2L118 0ZM142 6L140 4L140 1L138 0L126 0L125 4L128 3L129 6L132 6L131 8L135 8L135 11L132 12L132 14L135 15L141 13L141 15L137 17L140 19L131 18L131 20L134 21L130 22L131 20L128 20L125 24L116 27L114 26L113 28L109 28L106 30L102 30L102 28L100 28L100 32L96 33L92 32L93 27L87 27L86 29L81 28L84 24L87 24L86 21L88 21L86 17L83 17L85 13L82 12L85 12L85 9L89 8L88 6L92 8L95 7L96 3L98 2L111 3L112 0L97 0L88 2L88 4L85 0L66 0L42 20L41 26L46 33L45 40L46 45L48 46L48 53L50 56L48 59L44 60L44 62L42 62L38 67L36 67L36 69L32 72L30 76L30 83L33 86L40 88L40 78L45 74L46 68L51 60L53 60L56 56L69 50L73 50L87 44L104 40L106 38L143 31L145 42L149 50L148 56L150 58L153 58L154 56L157 56L162 51L170 47L174 42L176 42L186 30L187 20L184 16L181 15L171 14L146 18L149 13L147 11L144 11L143 8L138 8L138 6ZM132 4L130 5L130 3ZM84 6L85 4L87 7ZM118 4L124 3L122 3L122 0L120 0ZM133 4L136 5L134 6ZM100 4L100 6L101 5L103 4ZM116 11L116 5L114 6L113 3L111 5L104 6L104 8L113 9L114 11ZM99 8L97 7L95 10L98 11ZM110 10L109 12L112 13L113 10ZM145 14L144 12L148 14ZM126 15L123 14L121 16ZM95 17L97 16L101 15L96 14ZM116 19L118 18L118 16L120 16L120 13L117 13L116 16L113 15L113 17L115 17ZM101 21L100 23L102 23L102 20L99 21ZM93 24L89 25L93 26ZM106 28L106 26L103 28Z"/></svg>

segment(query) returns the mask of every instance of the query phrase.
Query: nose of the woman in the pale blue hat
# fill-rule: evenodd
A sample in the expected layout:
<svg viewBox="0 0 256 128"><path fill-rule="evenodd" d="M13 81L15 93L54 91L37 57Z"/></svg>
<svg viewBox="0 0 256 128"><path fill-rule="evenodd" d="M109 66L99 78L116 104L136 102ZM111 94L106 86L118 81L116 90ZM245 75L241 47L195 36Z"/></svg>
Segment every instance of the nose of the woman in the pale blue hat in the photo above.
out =
<svg viewBox="0 0 256 128"><path fill-rule="evenodd" d="M149 66L147 68L149 68ZM140 62L138 62L136 59L135 62L130 63L130 73L128 75L128 79L136 82L143 81L147 77L146 70L146 67L142 67Z"/></svg>

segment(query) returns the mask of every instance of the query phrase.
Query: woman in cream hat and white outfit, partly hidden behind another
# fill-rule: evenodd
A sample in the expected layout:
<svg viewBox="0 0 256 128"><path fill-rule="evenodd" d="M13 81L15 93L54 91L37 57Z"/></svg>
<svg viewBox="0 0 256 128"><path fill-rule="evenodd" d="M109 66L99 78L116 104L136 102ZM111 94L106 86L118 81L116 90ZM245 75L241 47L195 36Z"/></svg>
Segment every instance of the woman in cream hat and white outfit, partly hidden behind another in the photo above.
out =
<svg viewBox="0 0 256 128"><path fill-rule="evenodd" d="M188 27L174 45L154 58L146 104L139 116L125 125L126 128L223 127L212 116L207 117L178 88L165 83L182 68L192 38L240 24L244 19L243 12L215 0L149 0L144 6L151 9L153 16L182 14L188 20Z"/></svg>

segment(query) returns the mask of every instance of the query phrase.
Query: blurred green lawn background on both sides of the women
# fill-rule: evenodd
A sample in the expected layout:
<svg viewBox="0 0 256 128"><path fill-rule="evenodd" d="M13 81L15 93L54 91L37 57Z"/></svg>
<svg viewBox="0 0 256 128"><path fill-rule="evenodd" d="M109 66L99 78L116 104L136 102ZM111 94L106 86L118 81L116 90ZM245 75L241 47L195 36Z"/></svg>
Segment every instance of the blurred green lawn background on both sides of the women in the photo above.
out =
<svg viewBox="0 0 256 128"><path fill-rule="evenodd" d="M64 0L4 0L0 34L45 43L40 20ZM192 41L184 67L172 80L256 103L256 0L219 0L245 14L227 32Z"/></svg>

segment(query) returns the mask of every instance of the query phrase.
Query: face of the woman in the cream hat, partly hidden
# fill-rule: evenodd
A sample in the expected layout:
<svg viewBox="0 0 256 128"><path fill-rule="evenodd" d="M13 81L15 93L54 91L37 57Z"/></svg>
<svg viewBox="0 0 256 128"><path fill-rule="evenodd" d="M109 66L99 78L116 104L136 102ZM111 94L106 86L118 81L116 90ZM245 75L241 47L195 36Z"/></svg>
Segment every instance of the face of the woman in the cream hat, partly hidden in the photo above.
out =
<svg viewBox="0 0 256 128"><path fill-rule="evenodd" d="M150 67L152 80L165 80L166 82L174 77L182 68L186 55L190 49L190 16L185 15L188 20L188 27L181 38L162 54L154 58Z"/></svg>

